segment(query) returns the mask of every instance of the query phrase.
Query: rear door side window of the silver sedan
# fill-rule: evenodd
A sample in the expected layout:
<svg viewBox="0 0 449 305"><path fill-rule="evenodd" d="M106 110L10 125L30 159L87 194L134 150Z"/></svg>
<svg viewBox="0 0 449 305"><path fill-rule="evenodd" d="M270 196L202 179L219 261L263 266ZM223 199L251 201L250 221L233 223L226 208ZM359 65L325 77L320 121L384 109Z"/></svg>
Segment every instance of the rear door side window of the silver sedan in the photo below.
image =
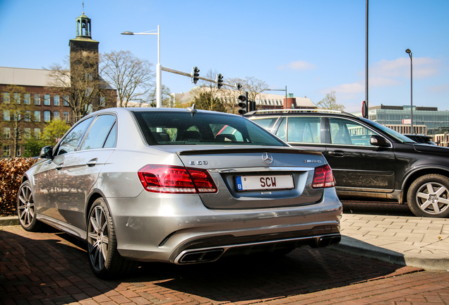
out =
<svg viewBox="0 0 449 305"><path fill-rule="evenodd" d="M115 116L113 115L97 116L97 119L95 119L94 124L92 124L88 134L85 136L80 150L102 148L114 123Z"/></svg>

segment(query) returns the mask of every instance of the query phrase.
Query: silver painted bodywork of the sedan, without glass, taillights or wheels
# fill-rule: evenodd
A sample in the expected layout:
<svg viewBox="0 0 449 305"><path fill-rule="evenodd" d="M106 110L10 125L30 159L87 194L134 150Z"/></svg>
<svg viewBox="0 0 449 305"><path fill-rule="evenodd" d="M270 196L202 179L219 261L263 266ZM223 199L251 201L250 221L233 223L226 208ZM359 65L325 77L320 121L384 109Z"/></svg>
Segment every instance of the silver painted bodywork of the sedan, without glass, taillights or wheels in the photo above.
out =
<svg viewBox="0 0 449 305"><path fill-rule="evenodd" d="M342 205L335 188L311 188L315 167L327 164L321 153L288 146L148 145L131 111L102 111L118 119L116 148L78 151L76 160L67 160L71 154L56 156L28 170L25 177L37 193L38 220L85 239L90 198L102 196L114 221L119 253L138 261L186 263L182 260L189 253L203 251L203 257L208 251L220 251L208 260L213 261L235 248L247 253L248 247L275 246L281 241L304 239L311 245L323 237L340 241ZM269 165L264 152L273 157ZM92 160L96 160L93 166ZM56 169L61 163L61 169ZM145 191L138 177L145 165L206 169L218 191ZM57 187L70 197L49 197L40 184L46 167L54 172ZM294 189L237 191L235 187L236 175L273 173L292 174ZM68 191L68 186L76 187Z"/></svg>

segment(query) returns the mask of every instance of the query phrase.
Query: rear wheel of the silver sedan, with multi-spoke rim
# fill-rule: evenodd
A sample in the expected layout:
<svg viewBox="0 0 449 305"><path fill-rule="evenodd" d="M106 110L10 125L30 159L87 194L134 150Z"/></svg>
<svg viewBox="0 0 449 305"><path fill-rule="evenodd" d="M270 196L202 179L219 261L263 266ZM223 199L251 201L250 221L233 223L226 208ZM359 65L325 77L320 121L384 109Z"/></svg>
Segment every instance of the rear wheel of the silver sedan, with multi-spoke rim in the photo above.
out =
<svg viewBox="0 0 449 305"><path fill-rule="evenodd" d="M110 280L137 268L136 262L127 261L117 251L114 223L104 198L97 198L92 204L87 228L89 264L97 277Z"/></svg>

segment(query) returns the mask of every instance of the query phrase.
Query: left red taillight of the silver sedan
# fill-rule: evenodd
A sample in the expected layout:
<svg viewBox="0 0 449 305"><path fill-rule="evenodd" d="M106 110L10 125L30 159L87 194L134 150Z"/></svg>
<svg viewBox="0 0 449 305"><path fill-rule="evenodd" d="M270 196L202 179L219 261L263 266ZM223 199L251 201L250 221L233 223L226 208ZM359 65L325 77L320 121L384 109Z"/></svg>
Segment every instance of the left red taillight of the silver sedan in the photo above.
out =
<svg viewBox="0 0 449 305"><path fill-rule="evenodd" d="M205 169L169 165L146 165L138 171L143 188L153 193L215 193L212 177Z"/></svg>

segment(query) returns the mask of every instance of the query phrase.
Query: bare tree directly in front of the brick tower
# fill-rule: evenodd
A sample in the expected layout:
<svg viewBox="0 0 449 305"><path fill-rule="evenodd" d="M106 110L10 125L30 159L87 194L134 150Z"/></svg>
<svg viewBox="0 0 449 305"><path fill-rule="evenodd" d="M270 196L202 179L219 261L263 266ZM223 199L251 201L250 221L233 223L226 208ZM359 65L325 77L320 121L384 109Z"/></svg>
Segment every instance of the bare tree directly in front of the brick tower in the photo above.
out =
<svg viewBox="0 0 449 305"><path fill-rule="evenodd" d="M68 95L75 121L104 106L100 100L107 102L107 83L98 73L98 54L96 52L74 52L68 57L63 67L53 64L49 69L48 90Z"/></svg>

